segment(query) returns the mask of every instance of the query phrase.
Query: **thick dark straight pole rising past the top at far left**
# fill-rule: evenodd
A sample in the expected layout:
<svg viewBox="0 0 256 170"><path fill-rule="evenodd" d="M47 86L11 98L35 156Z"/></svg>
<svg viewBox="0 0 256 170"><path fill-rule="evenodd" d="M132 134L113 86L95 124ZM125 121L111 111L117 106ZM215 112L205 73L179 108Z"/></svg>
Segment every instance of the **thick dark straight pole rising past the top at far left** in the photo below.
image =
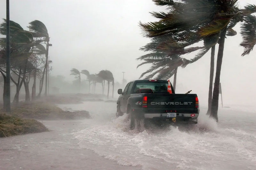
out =
<svg viewBox="0 0 256 170"><path fill-rule="evenodd" d="M10 6L6 0L6 112L11 112L10 65Z"/></svg>

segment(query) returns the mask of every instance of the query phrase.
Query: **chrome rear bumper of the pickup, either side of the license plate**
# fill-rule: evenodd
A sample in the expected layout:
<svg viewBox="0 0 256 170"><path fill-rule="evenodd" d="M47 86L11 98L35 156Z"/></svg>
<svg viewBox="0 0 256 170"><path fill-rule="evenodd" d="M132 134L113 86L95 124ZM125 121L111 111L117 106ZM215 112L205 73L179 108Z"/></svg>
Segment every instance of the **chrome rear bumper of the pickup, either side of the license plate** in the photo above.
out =
<svg viewBox="0 0 256 170"><path fill-rule="evenodd" d="M195 116L192 117L191 114ZM199 113L177 113L176 118L189 120L189 119L196 119L198 118ZM171 119L167 118L167 113L144 113L144 118L146 119Z"/></svg>

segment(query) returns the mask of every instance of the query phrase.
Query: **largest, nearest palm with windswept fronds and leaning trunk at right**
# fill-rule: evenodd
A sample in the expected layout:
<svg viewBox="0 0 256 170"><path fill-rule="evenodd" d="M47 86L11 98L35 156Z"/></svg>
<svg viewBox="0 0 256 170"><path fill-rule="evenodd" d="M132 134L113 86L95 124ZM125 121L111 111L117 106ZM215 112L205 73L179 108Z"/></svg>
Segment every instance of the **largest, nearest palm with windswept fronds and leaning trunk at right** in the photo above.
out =
<svg viewBox="0 0 256 170"><path fill-rule="evenodd" d="M236 23L247 19L242 24L242 36L245 41L245 43L241 43L245 48L243 55L252 50L255 45L255 27L252 26L255 17L251 14L256 10L255 5L247 5L245 9L240 10L236 7L237 0L182 0L182 3L172 0L154 0L154 2L157 5L167 5L170 12L152 12L156 18L160 19L159 22L140 23L145 31L145 36L168 35L176 39L176 41L170 42L172 46L181 44L184 48L221 33L210 115L218 121L219 82L225 37L228 34L235 35L236 31L232 28ZM250 36L252 38L248 38ZM166 44L164 45L166 46ZM209 48L202 48L200 53L204 54L208 50ZM193 59L191 61L193 62Z"/></svg>

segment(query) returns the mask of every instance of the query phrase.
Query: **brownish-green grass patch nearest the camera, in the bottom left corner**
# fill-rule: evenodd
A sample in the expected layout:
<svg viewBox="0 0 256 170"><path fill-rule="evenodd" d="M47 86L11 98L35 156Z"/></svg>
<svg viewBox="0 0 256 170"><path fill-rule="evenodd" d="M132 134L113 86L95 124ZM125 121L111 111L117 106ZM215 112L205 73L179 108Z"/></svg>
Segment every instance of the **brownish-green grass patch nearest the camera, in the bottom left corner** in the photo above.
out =
<svg viewBox="0 0 256 170"><path fill-rule="evenodd" d="M0 114L0 137L45 132L48 129L37 120L27 120Z"/></svg>

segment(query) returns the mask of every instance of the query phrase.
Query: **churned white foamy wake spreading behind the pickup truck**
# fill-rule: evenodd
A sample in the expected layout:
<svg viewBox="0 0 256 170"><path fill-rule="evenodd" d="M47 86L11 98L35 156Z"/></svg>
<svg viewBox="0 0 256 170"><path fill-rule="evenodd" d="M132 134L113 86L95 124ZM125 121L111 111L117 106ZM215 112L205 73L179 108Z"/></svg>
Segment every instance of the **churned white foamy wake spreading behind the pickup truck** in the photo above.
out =
<svg viewBox="0 0 256 170"><path fill-rule="evenodd" d="M74 134L81 148L143 169L256 169L256 133L244 128L244 122L254 123L251 119L237 123L228 113L216 123L201 112L198 124L187 128L145 128L140 121L129 130L128 115L115 118L114 106L112 113L94 112L90 126Z"/></svg>

